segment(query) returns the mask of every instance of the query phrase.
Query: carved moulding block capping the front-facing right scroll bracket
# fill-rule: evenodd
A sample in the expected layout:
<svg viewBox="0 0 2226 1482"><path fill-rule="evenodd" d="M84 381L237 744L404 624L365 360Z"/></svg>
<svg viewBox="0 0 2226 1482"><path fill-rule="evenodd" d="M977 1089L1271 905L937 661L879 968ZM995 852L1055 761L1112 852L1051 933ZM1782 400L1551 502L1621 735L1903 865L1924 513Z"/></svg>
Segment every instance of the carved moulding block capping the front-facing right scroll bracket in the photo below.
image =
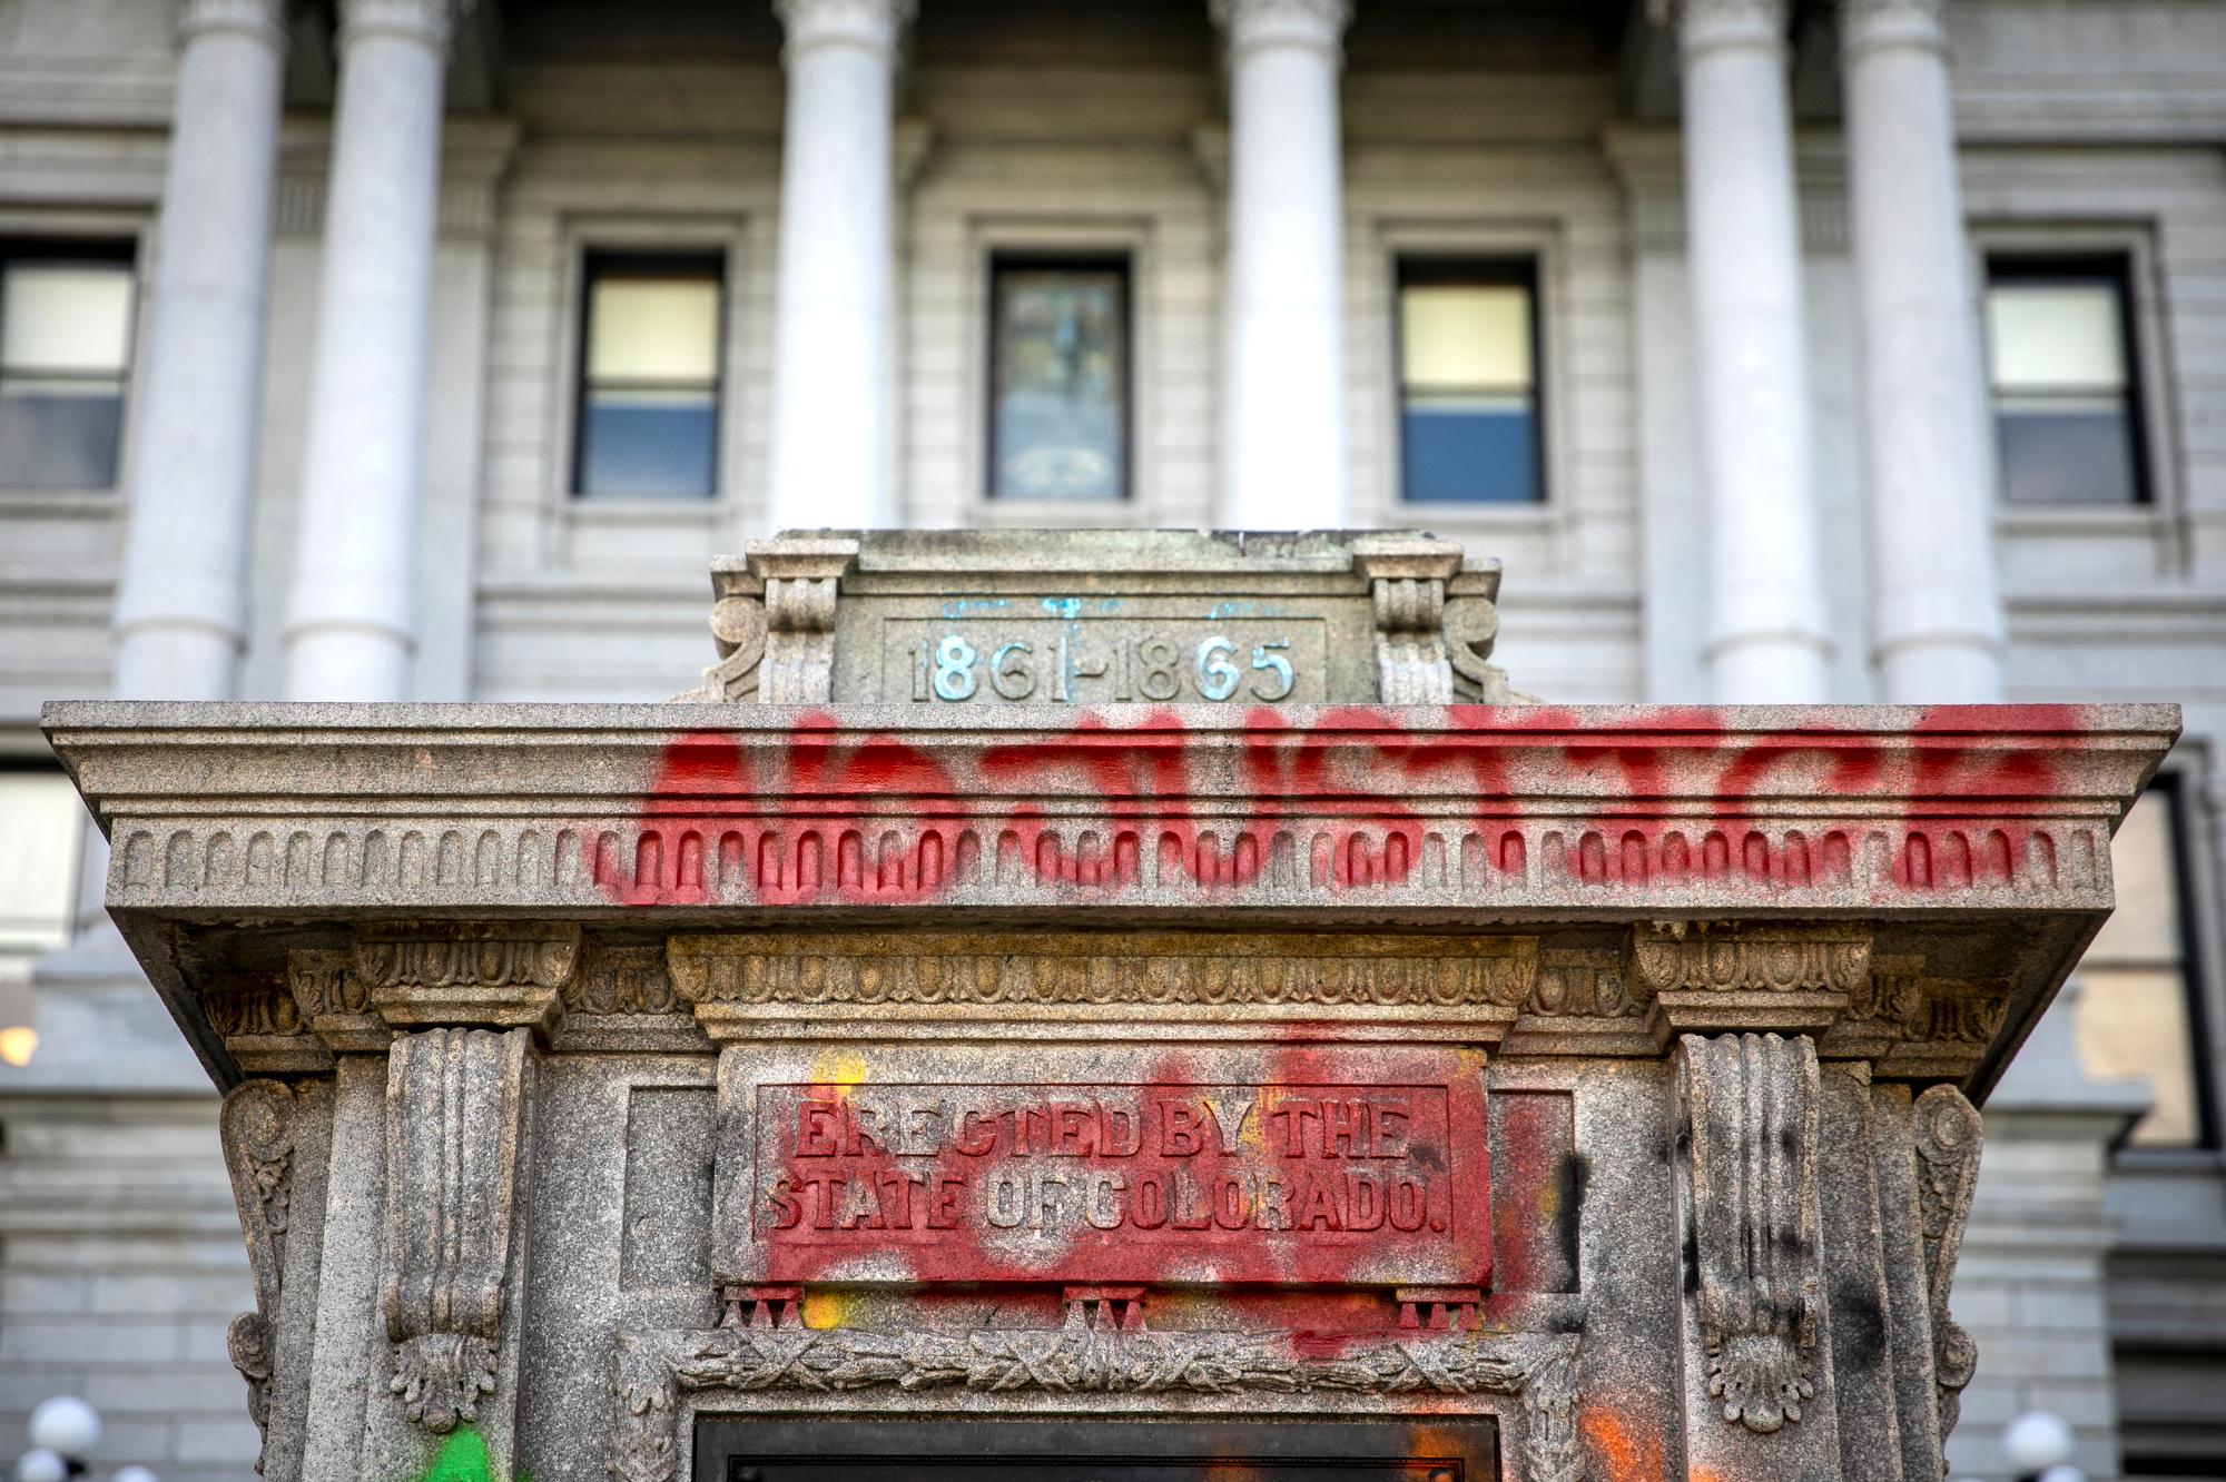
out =
<svg viewBox="0 0 2226 1482"><path fill-rule="evenodd" d="M1634 926L1632 977L1654 990L1649 1021L1661 1046L1692 1033L1821 1033L1870 979L1870 928Z"/></svg>

